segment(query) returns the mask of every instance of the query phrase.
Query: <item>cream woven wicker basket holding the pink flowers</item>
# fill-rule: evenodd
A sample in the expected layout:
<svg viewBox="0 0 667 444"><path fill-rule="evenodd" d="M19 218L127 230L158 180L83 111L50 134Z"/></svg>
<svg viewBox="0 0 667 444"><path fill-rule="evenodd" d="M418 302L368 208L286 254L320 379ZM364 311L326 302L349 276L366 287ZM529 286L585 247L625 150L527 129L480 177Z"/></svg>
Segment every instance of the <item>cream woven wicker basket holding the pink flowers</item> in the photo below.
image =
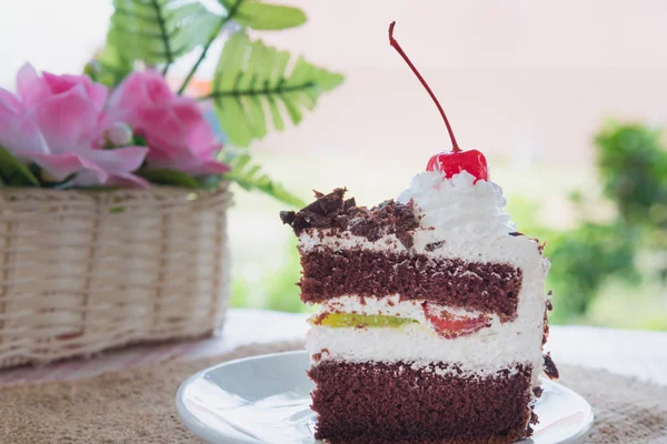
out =
<svg viewBox="0 0 667 444"><path fill-rule="evenodd" d="M0 188L0 369L221 326L227 186Z"/></svg>

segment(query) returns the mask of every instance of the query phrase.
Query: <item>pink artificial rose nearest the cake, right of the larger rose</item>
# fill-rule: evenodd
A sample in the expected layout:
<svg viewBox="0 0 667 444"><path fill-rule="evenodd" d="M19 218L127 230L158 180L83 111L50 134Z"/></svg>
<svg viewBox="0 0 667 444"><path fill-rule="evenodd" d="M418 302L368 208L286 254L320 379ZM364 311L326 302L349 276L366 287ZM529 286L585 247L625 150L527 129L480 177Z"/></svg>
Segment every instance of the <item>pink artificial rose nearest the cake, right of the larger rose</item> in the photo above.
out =
<svg viewBox="0 0 667 444"><path fill-rule="evenodd" d="M132 127L149 148L147 168L195 176L229 171L216 160L222 144L191 98L173 93L156 71L133 72L111 94L108 118Z"/></svg>

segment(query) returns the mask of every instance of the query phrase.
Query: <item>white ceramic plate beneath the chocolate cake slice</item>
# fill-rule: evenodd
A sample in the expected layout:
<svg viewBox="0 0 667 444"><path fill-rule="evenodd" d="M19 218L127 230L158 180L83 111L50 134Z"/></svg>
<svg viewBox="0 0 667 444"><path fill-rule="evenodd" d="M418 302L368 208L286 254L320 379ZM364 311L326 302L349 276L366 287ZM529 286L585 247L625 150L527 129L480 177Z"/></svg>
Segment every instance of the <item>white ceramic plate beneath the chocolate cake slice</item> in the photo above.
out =
<svg viewBox="0 0 667 444"><path fill-rule="evenodd" d="M306 352L248 357L190 376L176 395L183 423L209 443L315 443L312 383ZM593 425L590 405L560 384L544 380L532 440L579 443Z"/></svg>

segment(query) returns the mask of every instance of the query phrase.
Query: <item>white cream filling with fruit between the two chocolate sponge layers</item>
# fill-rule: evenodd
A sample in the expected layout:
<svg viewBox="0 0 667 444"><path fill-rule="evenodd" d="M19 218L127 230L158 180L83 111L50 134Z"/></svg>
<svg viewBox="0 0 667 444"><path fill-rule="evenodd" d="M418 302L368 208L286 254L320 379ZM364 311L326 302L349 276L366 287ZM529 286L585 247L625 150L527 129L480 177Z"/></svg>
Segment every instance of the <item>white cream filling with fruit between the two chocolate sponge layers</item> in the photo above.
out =
<svg viewBox="0 0 667 444"><path fill-rule="evenodd" d="M544 296L542 296L544 301ZM311 354L321 360L347 362L409 362L419 367L434 362L456 363L467 375L486 376L518 364L530 364L534 385L542 369L541 337L544 302L538 297L519 301L514 322L500 322L497 315L491 324L470 335L445 339L438 335L421 309L424 301L400 301L390 297L341 296L323 304L320 313L337 311L358 314L381 314L414 319L419 324L402 327L329 327L313 325L307 337ZM479 312L448 307L457 315L475 316ZM452 372L450 369L447 372Z"/></svg>

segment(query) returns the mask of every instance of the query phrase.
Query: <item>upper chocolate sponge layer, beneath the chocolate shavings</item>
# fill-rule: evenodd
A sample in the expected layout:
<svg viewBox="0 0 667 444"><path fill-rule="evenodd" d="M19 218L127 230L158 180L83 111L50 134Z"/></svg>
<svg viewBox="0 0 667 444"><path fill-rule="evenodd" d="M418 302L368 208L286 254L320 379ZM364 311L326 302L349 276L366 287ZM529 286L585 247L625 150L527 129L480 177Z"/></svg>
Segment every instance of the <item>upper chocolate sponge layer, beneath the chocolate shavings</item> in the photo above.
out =
<svg viewBox="0 0 667 444"><path fill-rule="evenodd" d="M364 250L313 250L301 255L301 300L340 295L426 300L516 317L522 272L502 263L435 260L426 255Z"/></svg>

